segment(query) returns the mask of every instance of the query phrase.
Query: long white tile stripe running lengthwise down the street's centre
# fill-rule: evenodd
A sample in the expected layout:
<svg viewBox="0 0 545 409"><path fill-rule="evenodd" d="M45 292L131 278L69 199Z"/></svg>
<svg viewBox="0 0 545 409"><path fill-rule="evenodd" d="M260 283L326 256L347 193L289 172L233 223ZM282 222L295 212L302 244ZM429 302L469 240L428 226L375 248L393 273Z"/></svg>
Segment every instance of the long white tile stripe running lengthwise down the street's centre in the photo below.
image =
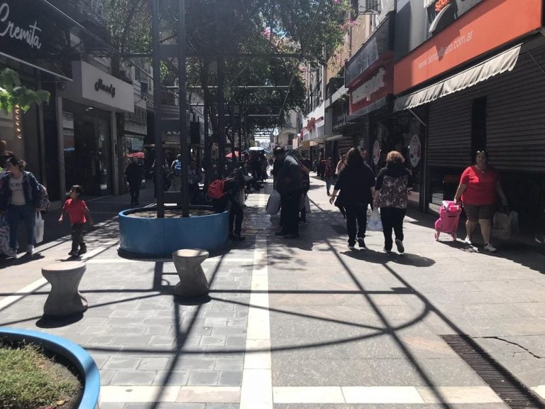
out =
<svg viewBox="0 0 545 409"><path fill-rule="evenodd" d="M259 195L260 208L265 197ZM246 328L246 354L242 372L240 409L272 409L272 368L270 359L269 279L267 239L255 238L253 269ZM260 293L255 293L259 290ZM255 350L259 352L252 352Z"/></svg>

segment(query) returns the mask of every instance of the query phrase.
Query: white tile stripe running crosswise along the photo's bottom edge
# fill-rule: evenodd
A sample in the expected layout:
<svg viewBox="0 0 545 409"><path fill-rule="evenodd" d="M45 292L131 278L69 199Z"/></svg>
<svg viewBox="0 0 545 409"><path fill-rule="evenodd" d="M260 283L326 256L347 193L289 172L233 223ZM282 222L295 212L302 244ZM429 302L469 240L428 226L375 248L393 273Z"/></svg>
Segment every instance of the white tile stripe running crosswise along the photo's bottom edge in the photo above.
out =
<svg viewBox="0 0 545 409"><path fill-rule="evenodd" d="M270 385L270 371L244 370L251 375L239 386L101 386L101 403L155 402L161 391L160 402L176 403L241 403L240 408L272 408L272 398L260 396L263 386ZM244 388L251 396L244 396ZM273 387L274 403L346 403L346 404L433 404L438 403L431 388L414 386L295 386ZM502 403L488 386L438 386L448 404ZM248 398L248 400L246 400Z"/></svg>

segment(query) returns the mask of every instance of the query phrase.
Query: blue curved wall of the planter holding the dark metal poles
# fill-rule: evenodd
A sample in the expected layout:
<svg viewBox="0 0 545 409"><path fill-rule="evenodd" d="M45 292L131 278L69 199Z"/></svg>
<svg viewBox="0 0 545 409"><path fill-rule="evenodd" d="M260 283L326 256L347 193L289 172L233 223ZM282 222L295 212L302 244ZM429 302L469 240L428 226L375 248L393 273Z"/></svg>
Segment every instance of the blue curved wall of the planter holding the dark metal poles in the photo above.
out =
<svg viewBox="0 0 545 409"><path fill-rule="evenodd" d="M165 212L178 208L170 207ZM193 208L212 209L204 206ZM146 207L119 212L121 251L138 256L170 257L173 251L180 249L219 251L229 240L229 212L164 219L129 216L150 210L156 211L155 207Z"/></svg>

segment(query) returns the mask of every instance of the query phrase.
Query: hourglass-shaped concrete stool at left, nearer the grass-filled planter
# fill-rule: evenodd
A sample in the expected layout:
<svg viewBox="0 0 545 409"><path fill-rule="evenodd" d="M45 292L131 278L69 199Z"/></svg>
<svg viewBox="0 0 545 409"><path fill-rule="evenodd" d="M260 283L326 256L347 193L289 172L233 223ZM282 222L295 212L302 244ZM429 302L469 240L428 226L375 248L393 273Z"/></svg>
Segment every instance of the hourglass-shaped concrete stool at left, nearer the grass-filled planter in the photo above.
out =
<svg viewBox="0 0 545 409"><path fill-rule="evenodd" d="M72 315L87 310L87 300L78 290L85 268L82 261L53 263L42 268L42 276L51 284L43 305L44 315Z"/></svg>

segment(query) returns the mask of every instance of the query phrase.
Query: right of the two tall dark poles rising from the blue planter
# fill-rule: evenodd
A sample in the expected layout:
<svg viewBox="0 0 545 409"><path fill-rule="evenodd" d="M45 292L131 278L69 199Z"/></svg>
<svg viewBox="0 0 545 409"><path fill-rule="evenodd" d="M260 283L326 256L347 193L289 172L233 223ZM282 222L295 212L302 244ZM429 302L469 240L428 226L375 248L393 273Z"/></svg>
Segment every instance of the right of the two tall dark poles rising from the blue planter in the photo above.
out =
<svg viewBox="0 0 545 409"><path fill-rule="evenodd" d="M180 102L180 151L182 151L182 217L189 217L189 151L187 149L187 94L185 92L185 0L178 6L178 99Z"/></svg>

